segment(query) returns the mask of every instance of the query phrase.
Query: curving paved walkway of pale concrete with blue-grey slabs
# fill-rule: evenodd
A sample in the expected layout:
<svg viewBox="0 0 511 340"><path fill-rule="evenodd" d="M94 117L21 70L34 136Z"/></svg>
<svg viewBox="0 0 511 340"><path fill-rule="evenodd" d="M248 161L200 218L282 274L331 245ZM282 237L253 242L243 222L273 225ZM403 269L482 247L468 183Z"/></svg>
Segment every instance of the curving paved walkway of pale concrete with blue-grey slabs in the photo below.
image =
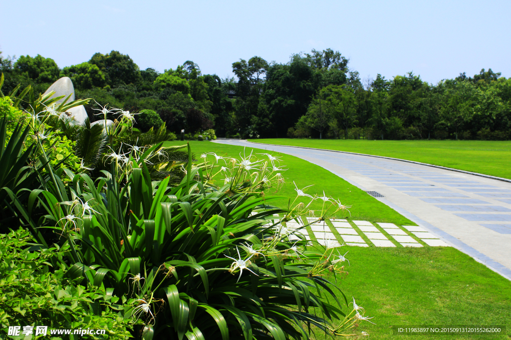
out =
<svg viewBox="0 0 511 340"><path fill-rule="evenodd" d="M392 207L447 244L511 279L511 183L335 151L217 140L317 164ZM379 194L379 195L378 195Z"/></svg>

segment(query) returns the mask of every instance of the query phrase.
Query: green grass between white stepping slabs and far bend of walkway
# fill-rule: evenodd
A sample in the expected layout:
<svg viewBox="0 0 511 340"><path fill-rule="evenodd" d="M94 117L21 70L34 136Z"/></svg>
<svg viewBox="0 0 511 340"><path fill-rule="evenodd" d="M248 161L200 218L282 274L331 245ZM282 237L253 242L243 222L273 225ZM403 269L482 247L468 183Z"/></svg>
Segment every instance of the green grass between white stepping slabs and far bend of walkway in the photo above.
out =
<svg viewBox="0 0 511 340"><path fill-rule="evenodd" d="M165 142L165 146L182 144L183 142L181 141ZM190 146L197 159L199 159L199 156L202 153L206 152L215 152L218 155L238 159L240 152L243 155L243 147L241 146L218 144L207 141L191 141ZM248 155L251 150L251 148L246 148L246 154ZM286 180L286 185L280 190L271 189L266 193L268 196L284 196L287 198L273 203L278 207L287 209L289 200L293 202L295 199L296 191L294 190L295 187L293 184L293 181L295 181L298 189L303 189L304 187L313 185L312 187L305 190L307 194L312 196L315 194L323 196L324 190L324 193L327 196L331 196L334 199L340 199L343 204L352 205L352 207L349 209L351 215L348 212L344 212L342 214L339 212L337 216L335 216L337 218L349 218L353 220L366 220L371 222L391 222L400 225L415 225L415 223L397 213L392 208L378 201L376 198L368 195L366 192L349 184L328 170L287 154L278 154L277 152L271 152L257 148L253 149L253 154L255 154L259 159L266 160L268 159L267 156L257 153L270 153L272 155L280 155L280 158L282 159L281 165L285 166L286 169L289 169L287 171L282 171L282 175ZM208 161L213 162L214 160L214 156L208 156ZM225 165L222 161L220 161L220 164ZM218 172L220 170L220 166L216 167L213 172ZM224 175L219 174L213 179L217 180L216 184L222 186L224 183L224 177ZM307 204L309 201L309 198L301 199L297 200L295 204L298 202L304 202ZM311 210L320 211L321 201L314 201L309 206L309 208ZM331 211L333 211L333 209Z"/></svg>

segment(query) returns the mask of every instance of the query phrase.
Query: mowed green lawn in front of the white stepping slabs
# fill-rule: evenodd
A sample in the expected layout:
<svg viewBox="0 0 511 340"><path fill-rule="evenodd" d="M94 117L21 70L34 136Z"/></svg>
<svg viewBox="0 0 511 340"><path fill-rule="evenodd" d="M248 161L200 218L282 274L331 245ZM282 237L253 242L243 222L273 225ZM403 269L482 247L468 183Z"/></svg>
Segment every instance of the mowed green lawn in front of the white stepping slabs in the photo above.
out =
<svg viewBox="0 0 511 340"><path fill-rule="evenodd" d="M341 255L348 250L348 274L337 275L337 286L348 302L355 297L365 316L374 317L376 325L362 321L358 328L369 338L511 338L511 281L470 256L452 247L339 248ZM393 335L394 325L506 325L507 330L505 335L412 336Z"/></svg>

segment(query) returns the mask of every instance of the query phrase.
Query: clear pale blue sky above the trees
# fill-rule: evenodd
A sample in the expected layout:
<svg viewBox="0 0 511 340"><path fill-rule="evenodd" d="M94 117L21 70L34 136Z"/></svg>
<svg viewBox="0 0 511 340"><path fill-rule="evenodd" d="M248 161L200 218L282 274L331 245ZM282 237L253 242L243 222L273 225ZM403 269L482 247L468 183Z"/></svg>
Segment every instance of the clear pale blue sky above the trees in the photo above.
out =
<svg viewBox="0 0 511 340"><path fill-rule="evenodd" d="M232 76L231 64L332 48L362 80L409 71L436 84L492 68L511 76L510 1L5 1L3 56L54 59L59 67L119 50L163 72L193 60Z"/></svg>

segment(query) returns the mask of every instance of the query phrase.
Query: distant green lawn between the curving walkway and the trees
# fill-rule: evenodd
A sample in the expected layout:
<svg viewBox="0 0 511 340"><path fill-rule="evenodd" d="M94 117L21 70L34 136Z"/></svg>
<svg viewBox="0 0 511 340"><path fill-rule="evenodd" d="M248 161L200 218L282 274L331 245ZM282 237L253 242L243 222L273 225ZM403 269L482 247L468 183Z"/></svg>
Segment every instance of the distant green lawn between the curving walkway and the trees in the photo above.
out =
<svg viewBox="0 0 511 340"><path fill-rule="evenodd" d="M257 139L251 142L374 154L511 179L511 141Z"/></svg>

